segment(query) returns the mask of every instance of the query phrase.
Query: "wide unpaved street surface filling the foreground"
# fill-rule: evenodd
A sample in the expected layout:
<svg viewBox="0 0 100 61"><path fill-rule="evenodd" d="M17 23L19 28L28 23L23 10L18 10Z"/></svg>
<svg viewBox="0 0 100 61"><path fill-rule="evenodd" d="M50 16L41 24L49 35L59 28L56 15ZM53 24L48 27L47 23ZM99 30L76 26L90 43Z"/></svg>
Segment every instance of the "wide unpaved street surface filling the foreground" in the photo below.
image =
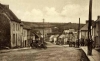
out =
<svg viewBox="0 0 100 61"><path fill-rule="evenodd" d="M80 49L47 43L47 49L27 49L0 54L0 61L89 61Z"/></svg>

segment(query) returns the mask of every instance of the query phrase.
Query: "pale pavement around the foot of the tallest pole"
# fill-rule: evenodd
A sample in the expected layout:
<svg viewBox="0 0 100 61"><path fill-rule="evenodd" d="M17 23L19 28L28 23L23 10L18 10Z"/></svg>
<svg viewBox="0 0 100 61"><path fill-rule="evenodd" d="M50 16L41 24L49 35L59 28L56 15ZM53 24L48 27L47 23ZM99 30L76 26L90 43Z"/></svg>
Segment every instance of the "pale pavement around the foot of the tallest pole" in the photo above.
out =
<svg viewBox="0 0 100 61"><path fill-rule="evenodd" d="M87 55L87 47L83 46L83 47L80 47L80 48L82 48L83 51ZM87 55L87 57L89 58L90 61L100 61L100 52L98 52L95 49L92 49L92 55L91 56Z"/></svg>

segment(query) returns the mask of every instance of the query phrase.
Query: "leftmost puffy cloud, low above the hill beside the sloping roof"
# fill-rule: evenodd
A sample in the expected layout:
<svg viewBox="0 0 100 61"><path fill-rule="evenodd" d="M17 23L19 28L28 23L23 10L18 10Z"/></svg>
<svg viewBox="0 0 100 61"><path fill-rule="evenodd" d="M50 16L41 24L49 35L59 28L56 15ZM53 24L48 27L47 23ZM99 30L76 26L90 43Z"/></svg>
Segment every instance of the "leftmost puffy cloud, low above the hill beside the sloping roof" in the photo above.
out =
<svg viewBox="0 0 100 61"><path fill-rule="evenodd" d="M43 12L39 9L21 12L22 21L40 22L43 19Z"/></svg>

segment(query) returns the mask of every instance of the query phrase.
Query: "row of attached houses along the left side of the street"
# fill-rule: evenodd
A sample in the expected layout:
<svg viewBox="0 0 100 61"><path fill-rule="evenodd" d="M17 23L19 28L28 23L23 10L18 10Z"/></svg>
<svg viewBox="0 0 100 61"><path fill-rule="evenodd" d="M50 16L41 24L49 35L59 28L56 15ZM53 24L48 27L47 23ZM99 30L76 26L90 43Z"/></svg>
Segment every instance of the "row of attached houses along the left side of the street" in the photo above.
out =
<svg viewBox="0 0 100 61"><path fill-rule="evenodd" d="M28 47L30 30L23 26L8 5L0 4L0 48Z"/></svg>

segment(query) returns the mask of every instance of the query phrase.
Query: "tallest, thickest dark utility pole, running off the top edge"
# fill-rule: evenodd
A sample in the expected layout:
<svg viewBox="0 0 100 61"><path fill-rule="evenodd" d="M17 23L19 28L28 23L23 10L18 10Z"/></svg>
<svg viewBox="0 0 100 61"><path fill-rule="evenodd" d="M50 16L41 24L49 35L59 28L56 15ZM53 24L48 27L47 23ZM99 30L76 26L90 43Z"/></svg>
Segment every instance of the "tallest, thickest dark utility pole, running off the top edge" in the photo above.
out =
<svg viewBox="0 0 100 61"><path fill-rule="evenodd" d="M92 55L92 37L91 37L91 26L92 26L92 0L89 2L89 23L88 23L88 55Z"/></svg>

